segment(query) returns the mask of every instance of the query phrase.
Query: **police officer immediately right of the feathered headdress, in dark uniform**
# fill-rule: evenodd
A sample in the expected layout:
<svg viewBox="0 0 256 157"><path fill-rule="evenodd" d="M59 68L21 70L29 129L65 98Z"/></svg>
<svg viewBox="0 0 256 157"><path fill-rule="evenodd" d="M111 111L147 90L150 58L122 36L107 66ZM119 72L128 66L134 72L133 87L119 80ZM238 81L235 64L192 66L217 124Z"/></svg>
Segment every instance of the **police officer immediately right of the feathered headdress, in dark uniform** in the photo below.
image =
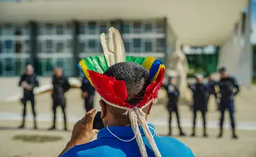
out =
<svg viewBox="0 0 256 157"><path fill-rule="evenodd" d="M179 118L179 110L178 110L178 100L179 100L179 90L175 86L176 84L176 79L169 77L169 82L167 86L165 86L165 90L167 91L167 96L168 96L168 103L167 103L167 110L169 112L169 136L171 136L171 114L175 113L177 116L177 123L179 126L180 130L180 136L184 136L185 133L183 133L181 129L181 124L180 124L180 118Z"/></svg>

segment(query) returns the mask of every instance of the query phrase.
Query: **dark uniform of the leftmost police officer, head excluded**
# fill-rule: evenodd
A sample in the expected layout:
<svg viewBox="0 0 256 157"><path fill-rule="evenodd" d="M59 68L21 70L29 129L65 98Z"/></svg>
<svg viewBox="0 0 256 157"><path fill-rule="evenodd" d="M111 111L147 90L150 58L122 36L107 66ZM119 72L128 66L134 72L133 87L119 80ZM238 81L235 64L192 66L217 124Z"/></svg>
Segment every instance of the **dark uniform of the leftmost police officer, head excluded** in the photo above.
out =
<svg viewBox="0 0 256 157"><path fill-rule="evenodd" d="M20 77L20 82L18 83L19 86L22 86L22 82L25 82L28 86L32 86L32 90L26 90L24 88L23 92L23 97L21 100L21 103L23 104L23 119L22 119L22 124L19 128L24 128L25 125L25 117L26 117L26 107L27 107L27 101L30 101L31 107L32 107L32 112L33 112L33 124L34 124L34 129L37 129L37 122L36 122L36 112L35 112L35 96L33 94L33 88L39 86L39 82L37 81L37 76L35 73L32 75L27 75L24 73L22 77Z"/></svg>

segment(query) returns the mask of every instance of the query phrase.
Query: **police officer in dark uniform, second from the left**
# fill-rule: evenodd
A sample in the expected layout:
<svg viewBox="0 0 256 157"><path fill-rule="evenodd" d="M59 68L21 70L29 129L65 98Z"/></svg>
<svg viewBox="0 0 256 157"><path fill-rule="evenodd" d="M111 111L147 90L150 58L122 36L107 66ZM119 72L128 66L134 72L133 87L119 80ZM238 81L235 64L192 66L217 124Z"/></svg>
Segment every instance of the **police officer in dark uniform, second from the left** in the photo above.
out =
<svg viewBox="0 0 256 157"><path fill-rule="evenodd" d="M56 67L53 71L53 126L49 130L56 130L56 109L61 107L64 119L64 130L68 130L66 124L66 99L65 92L71 88L68 78L64 77L62 69Z"/></svg>

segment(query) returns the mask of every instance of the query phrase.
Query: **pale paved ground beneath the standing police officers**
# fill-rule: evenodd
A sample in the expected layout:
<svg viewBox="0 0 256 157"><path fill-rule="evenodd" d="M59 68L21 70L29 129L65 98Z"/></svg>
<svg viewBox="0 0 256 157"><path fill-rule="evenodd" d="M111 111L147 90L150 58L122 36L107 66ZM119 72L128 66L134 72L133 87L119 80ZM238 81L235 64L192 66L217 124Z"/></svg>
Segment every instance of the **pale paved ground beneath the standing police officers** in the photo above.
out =
<svg viewBox="0 0 256 157"><path fill-rule="evenodd" d="M213 99L211 99L210 111L207 114L208 126L209 126L209 138L203 139L202 135L202 122L198 121L198 137L177 137L188 145L195 156L197 157L213 157L213 156L256 156L256 104L254 97L256 96L256 87L251 90L243 89L242 93L236 99L236 119L238 124L238 135L240 139L234 141L230 138L229 118L226 114L226 130L224 130L223 139L216 139L215 136L218 133L218 120L219 114L215 111ZM77 90L71 90L68 92L68 120L69 128L72 129L74 122L81 118L83 112L83 101L81 100L81 94ZM18 102L15 103L0 103L0 156L2 157L25 157L25 156L57 156L62 150L66 142L70 138L70 131L61 131L62 114L58 111L59 131L47 131L46 129L51 126L51 97L49 95L43 95L37 97L37 113L39 114L39 128L38 131L30 130L32 128L32 116L31 114L27 118L26 130L17 130L16 127L20 124L20 111L21 105ZM96 105L96 102L95 102ZM99 108L96 105L96 108ZM181 105L181 122L184 130L187 134L191 133L191 117L190 110L185 105ZM31 109L29 107L28 112ZM200 118L200 116L198 117ZM167 133L167 112L162 104L154 105L152 113L148 121L156 126L158 135L166 135ZM178 131L175 126L174 134ZM60 137L59 141L45 141L39 142L42 139L35 138L37 142L21 141L17 136L26 135L46 135Z"/></svg>

